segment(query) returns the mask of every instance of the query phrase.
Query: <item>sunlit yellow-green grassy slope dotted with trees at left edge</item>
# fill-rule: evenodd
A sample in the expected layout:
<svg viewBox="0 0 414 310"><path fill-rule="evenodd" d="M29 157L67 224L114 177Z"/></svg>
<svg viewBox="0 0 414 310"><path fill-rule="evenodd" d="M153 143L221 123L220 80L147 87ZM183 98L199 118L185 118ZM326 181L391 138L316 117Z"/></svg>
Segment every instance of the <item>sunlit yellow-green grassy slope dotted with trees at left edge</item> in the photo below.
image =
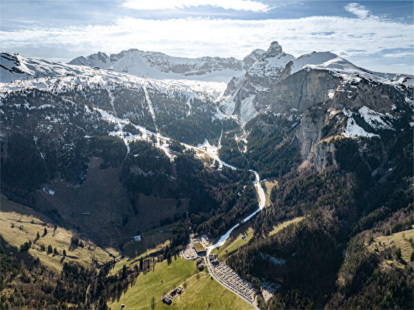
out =
<svg viewBox="0 0 414 310"><path fill-rule="evenodd" d="M1 236L6 242L12 246L17 246L17 248L20 248L21 244L30 240L32 242L32 247L29 249L28 253L39 258L41 263L46 265L46 267L51 267L60 271L63 267L63 262L77 262L86 267L90 264L92 259L95 259L98 262L112 260L112 258L110 258L110 256L101 248L86 240L82 240L83 244L85 244L83 249L77 247L77 249L70 251L69 247L72 232L62 229L61 227L58 227L56 231L54 231L55 226L48 224L46 226L48 233L42 237L43 229L45 228L43 222L50 223L51 220L27 206L11 202L3 195L1 196ZM14 228L11 227L12 223L14 224ZM20 225L23 225L23 229L19 229ZM39 231L41 237L35 244L33 244L37 231ZM40 251L40 244L46 246L46 251ZM52 245L53 249L55 249L55 247L57 248L59 255L48 254L47 248L49 244ZM63 249L66 250L66 258L62 255ZM117 252L114 249L110 249L110 252L117 255Z"/></svg>

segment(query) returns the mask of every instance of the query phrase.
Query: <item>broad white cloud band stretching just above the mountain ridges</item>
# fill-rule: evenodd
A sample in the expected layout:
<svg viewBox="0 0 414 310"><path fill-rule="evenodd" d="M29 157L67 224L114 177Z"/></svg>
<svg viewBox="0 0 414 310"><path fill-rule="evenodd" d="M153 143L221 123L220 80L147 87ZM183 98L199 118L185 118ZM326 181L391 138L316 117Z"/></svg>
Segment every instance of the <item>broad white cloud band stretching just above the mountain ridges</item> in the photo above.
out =
<svg viewBox="0 0 414 310"><path fill-rule="evenodd" d="M324 34L324 35L321 35ZM406 59L380 58L380 52L413 48L413 25L367 17L306 17L302 19L118 19L110 25L68 28L30 28L1 31L1 49L32 57L66 61L98 50L110 53L129 48L154 50L169 55L205 55L242 59L255 48L267 49L273 40L295 56L330 50L347 55L358 66L379 70L378 66L402 63ZM49 54L47 54L49 53ZM341 54L342 53L342 54ZM375 55L381 61L368 60ZM373 57L371 57L373 58ZM358 62L358 59L362 61ZM411 64L411 63L410 63ZM405 72L411 72L411 66ZM398 68L401 71L401 68Z"/></svg>

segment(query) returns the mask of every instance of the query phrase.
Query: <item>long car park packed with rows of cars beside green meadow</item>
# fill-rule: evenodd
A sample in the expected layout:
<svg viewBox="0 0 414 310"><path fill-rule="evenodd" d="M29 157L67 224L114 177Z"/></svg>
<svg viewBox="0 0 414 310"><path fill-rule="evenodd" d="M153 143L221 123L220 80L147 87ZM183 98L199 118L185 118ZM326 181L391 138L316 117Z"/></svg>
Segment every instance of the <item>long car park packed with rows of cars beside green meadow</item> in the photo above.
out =
<svg viewBox="0 0 414 310"><path fill-rule="evenodd" d="M215 258L215 260L217 260L217 258ZM210 262L213 264L213 261ZM228 267L226 264L223 264L222 262L215 262L215 273L232 289L237 291L240 295L242 295L250 302L253 302L253 293L255 293L255 289L253 289L252 284L240 278L233 269Z"/></svg>

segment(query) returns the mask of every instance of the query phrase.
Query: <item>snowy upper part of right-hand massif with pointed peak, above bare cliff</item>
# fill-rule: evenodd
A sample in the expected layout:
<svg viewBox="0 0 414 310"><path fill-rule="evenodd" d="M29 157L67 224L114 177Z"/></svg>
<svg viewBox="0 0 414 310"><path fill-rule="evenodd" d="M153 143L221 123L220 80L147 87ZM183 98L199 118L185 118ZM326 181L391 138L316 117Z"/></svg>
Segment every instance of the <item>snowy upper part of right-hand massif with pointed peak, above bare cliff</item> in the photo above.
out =
<svg viewBox="0 0 414 310"><path fill-rule="evenodd" d="M302 87L303 73L310 70L323 71L321 76L324 76L322 78L324 81L326 80L328 88L321 90L320 93L329 93L329 95L321 96L317 99L319 101L332 99L335 96L335 90L341 92L344 85L358 84L362 80L370 84L386 84L396 88L414 84L411 75L371 72L355 66L333 52L311 52L295 58L284 52L277 41L273 41L268 50L263 52L247 70L244 77L235 77L230 81L221 99L221 108L229 114L238 115L242 122L248 122L259 113L270 109L271 102L276 104L281 98L275 90L277 84L285 85L286 89L290 89L289 85L292 83L297 87ZM296 75L302 75L302 77L296 77ZM331 85L333 79L328 82L328 77L336 77L335 83L339 85ZM287 97L294 97L293 93L295 90L292 90L283 100L286 101ZM351 93L348 93L348 96L351 98ZM315 100L315 98L310 100Z"/></svg>

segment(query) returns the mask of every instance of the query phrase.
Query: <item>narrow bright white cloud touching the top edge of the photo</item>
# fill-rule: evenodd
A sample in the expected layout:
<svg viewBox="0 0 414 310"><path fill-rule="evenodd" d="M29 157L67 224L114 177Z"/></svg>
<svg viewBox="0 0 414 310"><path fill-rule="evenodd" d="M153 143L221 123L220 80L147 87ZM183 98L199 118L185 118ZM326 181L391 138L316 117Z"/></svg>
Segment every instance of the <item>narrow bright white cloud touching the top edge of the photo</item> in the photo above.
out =
<svg viewBox="0 0 414 310"><path fill-rule="evenodd" d="M126 0L122 6L134 10L177 10L198 6L253 12L270 10L270 6L252 0Z"/></svg>

